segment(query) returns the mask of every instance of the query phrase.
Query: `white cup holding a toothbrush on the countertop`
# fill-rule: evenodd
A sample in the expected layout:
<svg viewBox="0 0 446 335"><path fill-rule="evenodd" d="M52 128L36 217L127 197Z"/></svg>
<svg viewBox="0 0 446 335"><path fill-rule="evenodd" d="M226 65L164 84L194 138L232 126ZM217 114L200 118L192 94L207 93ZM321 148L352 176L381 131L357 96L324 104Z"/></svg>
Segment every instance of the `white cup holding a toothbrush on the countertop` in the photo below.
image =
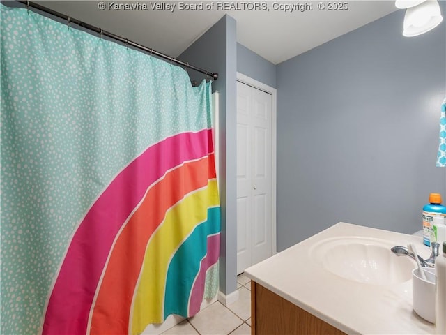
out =
<svg viewBox="0 0 446 335"><path fill-rule="evenodd" d="M424 320L435 323L435 269L424 267L426 281L418 268L412 271L413 310Z"/></svg>

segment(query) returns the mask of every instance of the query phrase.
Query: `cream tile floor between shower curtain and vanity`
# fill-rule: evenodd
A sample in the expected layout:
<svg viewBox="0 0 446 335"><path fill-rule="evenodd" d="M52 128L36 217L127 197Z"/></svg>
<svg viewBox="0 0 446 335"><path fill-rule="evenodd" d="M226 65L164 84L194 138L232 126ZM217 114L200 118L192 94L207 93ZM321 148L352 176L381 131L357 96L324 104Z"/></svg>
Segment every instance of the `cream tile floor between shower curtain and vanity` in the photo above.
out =
<svg viewBox="0 0 446 335"><path fill-rule="evenodd" d="M250 335L251 281L244 274L237 277L238 301L224 306L216 301L162 334L166 335Z"/></svg>

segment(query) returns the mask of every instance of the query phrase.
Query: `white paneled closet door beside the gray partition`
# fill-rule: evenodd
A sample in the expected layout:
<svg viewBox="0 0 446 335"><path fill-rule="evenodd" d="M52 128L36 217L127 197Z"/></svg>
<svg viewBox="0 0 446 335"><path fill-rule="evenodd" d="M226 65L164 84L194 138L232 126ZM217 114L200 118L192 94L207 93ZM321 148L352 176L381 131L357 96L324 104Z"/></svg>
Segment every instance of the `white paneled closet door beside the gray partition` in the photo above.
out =
<svg viewBox="0 0 446 335"><path fill-rule="evenodd" d="M237 82L237 272L272 255L272 96Z"/></svg>

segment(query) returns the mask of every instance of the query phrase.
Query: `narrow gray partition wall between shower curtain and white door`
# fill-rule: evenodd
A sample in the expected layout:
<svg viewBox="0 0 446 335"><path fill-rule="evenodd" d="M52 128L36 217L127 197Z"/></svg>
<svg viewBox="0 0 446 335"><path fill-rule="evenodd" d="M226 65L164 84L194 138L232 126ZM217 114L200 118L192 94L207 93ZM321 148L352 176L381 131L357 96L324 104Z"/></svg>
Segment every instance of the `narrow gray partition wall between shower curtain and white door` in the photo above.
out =
<svg viewBox="0 0 446 335"><path fill-rule="evenodd" d="M218 80L213 82L213 91L220 94L220 291L226 295L237 289L236 48L236 21L225 15L178 57L219 74ZM191 70L189 74L192 80L199 82L205 77Z"/></svg>

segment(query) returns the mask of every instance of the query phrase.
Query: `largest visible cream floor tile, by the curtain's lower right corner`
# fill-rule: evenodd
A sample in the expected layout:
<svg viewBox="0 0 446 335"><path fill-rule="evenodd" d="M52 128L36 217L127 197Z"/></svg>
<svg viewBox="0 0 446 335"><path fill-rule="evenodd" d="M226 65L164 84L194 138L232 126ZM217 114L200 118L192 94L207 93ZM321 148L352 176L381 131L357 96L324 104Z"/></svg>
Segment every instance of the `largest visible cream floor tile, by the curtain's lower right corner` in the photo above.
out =
<svg viewBox="0 0 446 335"><path fill-rule="evenodd" d="M197 315L190 318L189 322L202 335L229 334L243 323L242 320L220 304L219 301L200 311Z"/></svg>

